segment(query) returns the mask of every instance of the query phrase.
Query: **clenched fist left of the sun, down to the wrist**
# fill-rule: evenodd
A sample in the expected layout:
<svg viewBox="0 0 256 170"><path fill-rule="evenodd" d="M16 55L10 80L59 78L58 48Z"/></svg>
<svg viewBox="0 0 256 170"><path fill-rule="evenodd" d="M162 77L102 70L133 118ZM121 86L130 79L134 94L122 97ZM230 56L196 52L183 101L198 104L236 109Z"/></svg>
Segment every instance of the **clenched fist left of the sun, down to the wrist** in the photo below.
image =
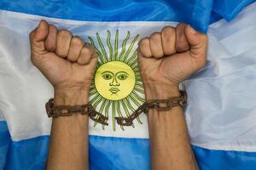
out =
<svg viewBox="0 0 256 170"><path fill-rule="evenodd" d="M96 68L97 55L89 43L67 30L41 20L30 33L32 63L55 89L86 89Z"/></svg>

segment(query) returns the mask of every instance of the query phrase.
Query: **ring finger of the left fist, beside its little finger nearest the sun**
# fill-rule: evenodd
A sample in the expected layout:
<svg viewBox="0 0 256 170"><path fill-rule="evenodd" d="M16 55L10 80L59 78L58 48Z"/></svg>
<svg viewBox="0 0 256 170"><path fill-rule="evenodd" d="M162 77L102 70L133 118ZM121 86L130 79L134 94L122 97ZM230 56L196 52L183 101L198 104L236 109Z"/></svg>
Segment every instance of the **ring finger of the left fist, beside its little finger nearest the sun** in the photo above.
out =
<svg viewBox="0 0 256 170"><path fill-rule="evenodd" d="M76 61L79 58L81 49L84 46L83 40L79 37L73 37L70 42L69 52L67 54L67 59L70 61Z"/></svg>

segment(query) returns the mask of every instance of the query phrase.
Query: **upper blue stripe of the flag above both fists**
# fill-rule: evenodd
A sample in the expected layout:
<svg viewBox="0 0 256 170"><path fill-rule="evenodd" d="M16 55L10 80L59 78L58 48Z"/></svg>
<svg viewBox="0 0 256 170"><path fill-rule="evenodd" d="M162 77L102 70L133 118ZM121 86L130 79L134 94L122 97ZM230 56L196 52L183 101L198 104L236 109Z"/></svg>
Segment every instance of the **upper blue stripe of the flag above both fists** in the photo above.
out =
<svg viewBox="0 0 256 170"><path fill-rule="evenodd" d="M0 9L89 21L179 21L207 31L212 1L201 0L1 0Z"/></svg>

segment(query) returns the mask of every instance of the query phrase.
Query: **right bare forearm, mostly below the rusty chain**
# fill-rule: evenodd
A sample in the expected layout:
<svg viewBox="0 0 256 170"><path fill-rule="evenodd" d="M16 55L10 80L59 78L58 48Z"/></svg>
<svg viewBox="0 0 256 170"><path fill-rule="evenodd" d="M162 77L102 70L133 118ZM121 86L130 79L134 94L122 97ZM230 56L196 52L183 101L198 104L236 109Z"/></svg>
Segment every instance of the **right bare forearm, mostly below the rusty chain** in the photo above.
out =
<svg viewBox="0 0 256 170"><path fill-rule="evenodd" d="M169 98L179 95L178 90L167 94ZM148 128L152 169L197 169L182 107L176 106L169 111L151 109Z"/></svg>

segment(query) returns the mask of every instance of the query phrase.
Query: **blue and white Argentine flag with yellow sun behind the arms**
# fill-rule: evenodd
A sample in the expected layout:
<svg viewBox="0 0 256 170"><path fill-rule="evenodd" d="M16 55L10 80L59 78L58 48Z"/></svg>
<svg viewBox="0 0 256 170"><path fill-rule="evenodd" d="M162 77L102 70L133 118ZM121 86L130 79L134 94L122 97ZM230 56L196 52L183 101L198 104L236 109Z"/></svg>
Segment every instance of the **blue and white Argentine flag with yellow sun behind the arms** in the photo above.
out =
<svg viewBox="0 0 256 170"><path fill-rule="evenodd" d="M114 117L144 102L137 42L185 22L207 32L207 66L183 82L185 117L201 170L256 169L256 3L253 0L0 0L0 170L43 170L51 120L44 104L53 88L30 61L29 32L39 20L90 42L97 70L132 73L122 97L94 77L90 103L108 126L90 120L90 169L149 170L147 117L131 127ZM132 88L131 87L132 84Z"/></svg>

